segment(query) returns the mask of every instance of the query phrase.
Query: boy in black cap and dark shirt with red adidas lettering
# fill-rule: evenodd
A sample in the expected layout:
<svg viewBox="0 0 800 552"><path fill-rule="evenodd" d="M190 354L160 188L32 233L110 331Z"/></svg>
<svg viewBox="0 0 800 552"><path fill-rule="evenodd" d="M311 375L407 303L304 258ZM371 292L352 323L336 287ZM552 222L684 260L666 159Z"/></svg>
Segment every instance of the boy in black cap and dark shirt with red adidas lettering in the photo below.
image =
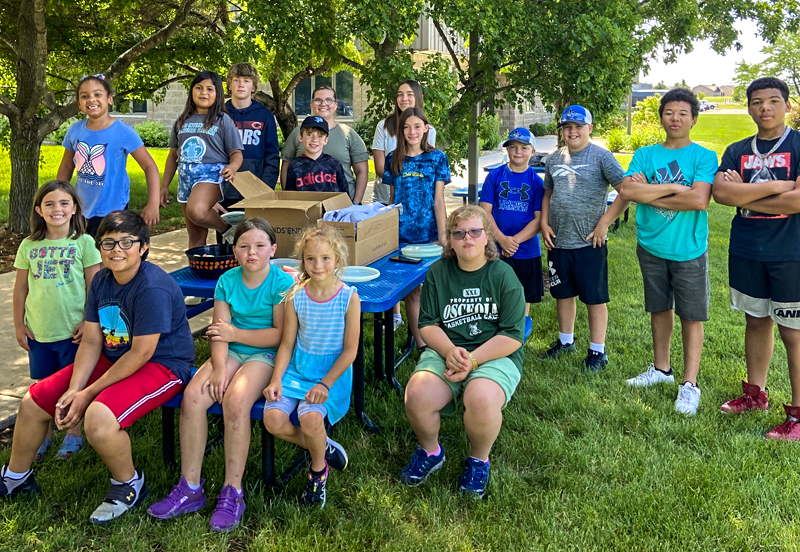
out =
<svg viewBox="0 0 800 552"><path fill-rule="evenodd" d="M328 143L328 123L309 116L300 125L300 142L305 154L289 164L286 190L302 192L347 192L342 164L322 148Z"/></svg>

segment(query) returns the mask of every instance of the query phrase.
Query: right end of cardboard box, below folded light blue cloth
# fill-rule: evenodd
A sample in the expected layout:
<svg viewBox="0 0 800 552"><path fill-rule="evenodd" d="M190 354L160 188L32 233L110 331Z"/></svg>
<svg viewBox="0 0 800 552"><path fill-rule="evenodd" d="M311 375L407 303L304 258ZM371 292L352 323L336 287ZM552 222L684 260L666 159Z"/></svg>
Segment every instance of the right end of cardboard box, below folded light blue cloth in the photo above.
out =
<svg viewBox="0 0 800 552"><path fill-rule="evenodd" d="M358 223L329 222L347 242L349 266L366 266L394 252L399 240L400 213L392 209Z"/></svg>

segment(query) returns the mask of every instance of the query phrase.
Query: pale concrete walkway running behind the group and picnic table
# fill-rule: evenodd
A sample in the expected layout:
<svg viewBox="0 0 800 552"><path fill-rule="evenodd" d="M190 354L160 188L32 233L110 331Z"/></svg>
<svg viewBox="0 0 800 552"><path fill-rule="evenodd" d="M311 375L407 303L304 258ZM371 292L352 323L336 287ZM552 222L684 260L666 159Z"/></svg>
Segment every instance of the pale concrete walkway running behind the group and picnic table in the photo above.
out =
<svg viewBox="0 0 800 552"><path fill-rule="evenodd" d="M549 151L555 148L555 137L537 138L539 151ZM480 166L485 167L503 160L503 152L485 155L480 159ZM464 161L466 166L466 160ZM466 173L466 171L465 171ZM480 182L483 182L486 173L481 171ZM463 200L453 197L453 190L468 184L466 174L453 176L452 183L445 187L445 201L447 211L450 212L463 204ZM367 188L364 199L372 198L372 184ZM209 236L208 243L214 243L213 233ZM175 230L153 236L150 241L150 255L148 260L157 264L167 272L172 272L187 265L185 255L188 237L186 230ZM31 384L28 369L28 354L17 344L14 333L14 318L12 312L12 299L14 293L14 280L16 273L0 274L0 431L11 426L16 419L19 402ZM192 331L207 326L211 321L211 312L196 316L191 320Z"/></svg>

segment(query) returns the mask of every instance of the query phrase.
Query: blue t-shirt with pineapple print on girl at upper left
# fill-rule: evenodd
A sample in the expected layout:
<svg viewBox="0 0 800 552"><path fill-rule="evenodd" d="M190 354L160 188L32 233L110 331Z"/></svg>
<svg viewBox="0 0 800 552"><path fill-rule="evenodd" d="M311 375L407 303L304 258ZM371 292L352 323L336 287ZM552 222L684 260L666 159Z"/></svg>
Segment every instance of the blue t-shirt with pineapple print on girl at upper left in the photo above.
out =
<svg viewBox="0 0 800 552"><path fill-rule="evenodd" d="M85 120L78 121L61 145L74 153L75 187L86 218L104 217L128 205L128 154L144 145L132 126L116 120L103 130L89 130Z"/></svg>

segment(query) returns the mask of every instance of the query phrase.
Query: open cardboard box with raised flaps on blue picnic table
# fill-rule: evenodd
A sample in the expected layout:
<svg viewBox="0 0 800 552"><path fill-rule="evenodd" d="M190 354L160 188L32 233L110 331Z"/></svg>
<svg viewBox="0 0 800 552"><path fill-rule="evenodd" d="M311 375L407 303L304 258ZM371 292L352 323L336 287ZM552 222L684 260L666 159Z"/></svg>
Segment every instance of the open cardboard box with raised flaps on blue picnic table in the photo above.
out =
<svg viewBox="0 0 800 552"><path fill-rule="evenodd" d="M233 183L244 199L232 207L244 209L245 216L261 217L275 229L276 257L291 257L302 231L328 211L344 209L353 203L341 192L274 191L250 172L236 173ZM397 249L399 214L396 209L361 221L326 222L344 236L349 249L348 265L365 266Z"/></svg>

